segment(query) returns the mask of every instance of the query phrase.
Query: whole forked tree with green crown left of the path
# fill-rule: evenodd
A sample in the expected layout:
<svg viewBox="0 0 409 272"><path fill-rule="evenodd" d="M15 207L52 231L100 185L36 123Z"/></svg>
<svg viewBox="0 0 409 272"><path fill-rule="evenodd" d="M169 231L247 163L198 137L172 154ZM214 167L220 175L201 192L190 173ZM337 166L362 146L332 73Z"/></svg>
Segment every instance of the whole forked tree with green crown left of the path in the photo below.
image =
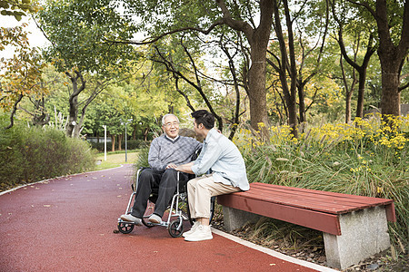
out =
<svg viewBox="0 0 409 272"><path fill-rule="evenodd" d="M70 137L79 135L86 107L107 85L124 75L128 60L135 58L131 46L102 43L105 38L129 39L133 32L133 26L117 8L118 4L110 0L50 0L38 13L40 27L52 44L45 56L72 84L66 127ZM85 99L78 120L78 97L85 91L86 77L95 79L95 89Z"/></svg>

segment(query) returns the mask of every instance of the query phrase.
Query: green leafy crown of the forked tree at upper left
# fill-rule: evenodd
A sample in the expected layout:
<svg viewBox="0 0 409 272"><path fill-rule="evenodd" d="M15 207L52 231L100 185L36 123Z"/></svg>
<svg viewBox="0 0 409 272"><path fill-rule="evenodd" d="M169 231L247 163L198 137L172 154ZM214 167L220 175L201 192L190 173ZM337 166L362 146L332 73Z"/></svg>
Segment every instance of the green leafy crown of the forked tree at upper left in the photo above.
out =
<svg viewBox="0 0 409 272"><path fill-rule="evenodd" d="M78 69L103 75L126 67L134 50L128 44L110 45L108 40L129 40L133 26L119 15L114 1L47 1L37 17L51 41L45 51L47 60L54 61L58 71Z"/></svg>

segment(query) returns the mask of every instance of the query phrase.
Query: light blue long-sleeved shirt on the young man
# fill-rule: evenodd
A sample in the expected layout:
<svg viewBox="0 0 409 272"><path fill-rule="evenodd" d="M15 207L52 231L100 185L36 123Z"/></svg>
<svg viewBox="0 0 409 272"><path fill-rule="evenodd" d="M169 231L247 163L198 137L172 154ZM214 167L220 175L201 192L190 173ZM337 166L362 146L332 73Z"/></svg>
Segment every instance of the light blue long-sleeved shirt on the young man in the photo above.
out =
<svg viewBox="0 0 409 272"><path fill-rule="evenodd" d="M213 172L214 182L250 189L242 154L233 141L214 129L207 133L202 151L192 166L196 175L205 174L207 170Z"/></svg>

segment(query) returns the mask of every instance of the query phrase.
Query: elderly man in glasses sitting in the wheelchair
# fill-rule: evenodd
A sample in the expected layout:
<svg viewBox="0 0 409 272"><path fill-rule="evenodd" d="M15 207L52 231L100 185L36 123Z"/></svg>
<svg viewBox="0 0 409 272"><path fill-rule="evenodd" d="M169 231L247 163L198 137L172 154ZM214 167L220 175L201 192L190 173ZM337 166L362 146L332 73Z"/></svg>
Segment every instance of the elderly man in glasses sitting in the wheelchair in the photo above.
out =
<svg viewBox="0 0 409 272"><path fill-rule="evenodd" d="M162 129L165 133L155 138L149 149L150 168L139 175L133 209L130 214L121 216L121 219L135 222L135 225L142 225L147 200L154 188L158 189L158 197L149 221L161 223L165 209L175 194L176 166L189 162L195 151L202 147L202 143L194 138L179 135L179 120L174 114L166 114L162 118ZM180 179L187 181L187 174L180 175Z"/></svg>

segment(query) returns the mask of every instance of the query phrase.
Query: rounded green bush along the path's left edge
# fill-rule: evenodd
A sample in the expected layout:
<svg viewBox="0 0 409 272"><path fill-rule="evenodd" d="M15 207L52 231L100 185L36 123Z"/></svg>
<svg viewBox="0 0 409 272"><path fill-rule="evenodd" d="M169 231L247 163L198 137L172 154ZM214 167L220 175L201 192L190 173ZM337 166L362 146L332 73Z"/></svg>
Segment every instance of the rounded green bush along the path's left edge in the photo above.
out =
<svg viewBox="0 0 409 272"><path fill-rule="evenodd" d="M0 124L5 125L5 116ZM17 123L0 131L0 189L92 170L95 153L85 141L66 138L51 128Z"/></svg>

